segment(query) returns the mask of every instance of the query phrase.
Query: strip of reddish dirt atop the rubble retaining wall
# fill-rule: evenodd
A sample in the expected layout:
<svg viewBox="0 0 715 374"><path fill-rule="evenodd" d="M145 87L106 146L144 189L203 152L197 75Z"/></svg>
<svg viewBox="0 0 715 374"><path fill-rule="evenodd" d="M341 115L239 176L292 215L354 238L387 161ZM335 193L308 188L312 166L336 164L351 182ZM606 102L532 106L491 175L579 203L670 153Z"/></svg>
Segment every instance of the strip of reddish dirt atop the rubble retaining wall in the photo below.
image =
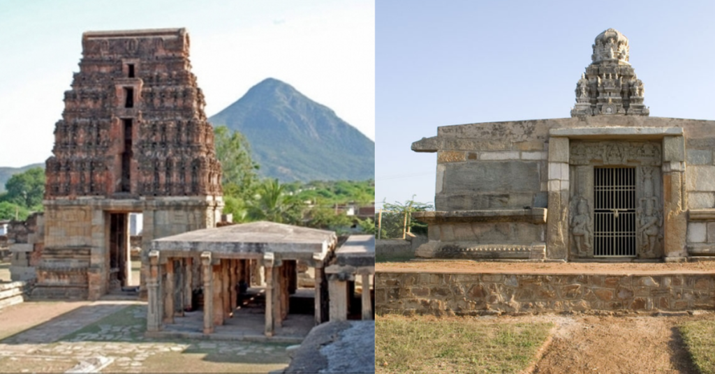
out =
<svg viewBox="0 0 715 374"><path fill-rule="evenodd" d="M715 272L715 261L705 262L497 262L497 261L408 261L378 262L377 272L514 272L536 274L668 274ZM379 276L379 275L378 275Z"/></svg>

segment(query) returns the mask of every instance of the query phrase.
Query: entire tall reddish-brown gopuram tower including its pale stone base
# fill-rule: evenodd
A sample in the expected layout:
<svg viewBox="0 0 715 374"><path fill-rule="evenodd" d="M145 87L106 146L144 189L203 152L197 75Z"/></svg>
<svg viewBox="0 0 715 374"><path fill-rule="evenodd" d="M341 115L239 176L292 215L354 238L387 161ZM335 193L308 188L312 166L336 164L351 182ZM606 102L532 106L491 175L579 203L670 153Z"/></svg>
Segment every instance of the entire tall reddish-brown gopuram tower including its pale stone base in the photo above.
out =
<svg viewBox="0 0 715 374"><path fill-rule="evenodd" d="M130 285L129 213L149 242L215 227L221 166L185 29L91 31L46 161L39 297L91 300ZM144 293L144 292L142 292Z"/></svg>

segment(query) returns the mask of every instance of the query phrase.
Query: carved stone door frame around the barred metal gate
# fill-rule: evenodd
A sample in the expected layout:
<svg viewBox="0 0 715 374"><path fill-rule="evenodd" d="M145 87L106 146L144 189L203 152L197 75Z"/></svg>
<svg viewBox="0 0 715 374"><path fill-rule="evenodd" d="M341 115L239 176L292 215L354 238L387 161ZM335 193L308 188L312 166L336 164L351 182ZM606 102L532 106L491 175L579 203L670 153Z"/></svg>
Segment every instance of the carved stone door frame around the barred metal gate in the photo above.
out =
<svg viewBox="0 0 715 374"><path fill-rule="evenodd" d="M686 217L684 207L686 199L684 193L685 183L685 141L683 129L680 127L580 127L551 129L548 142L548 216L547 216L547 257L552 259L577 260L572 253L574 212L578 214L579 200L573 200L574 191L583 190L581 184L593 186L593 167L622 166L636 167L638 182L637 207L640 208L636 217L638 225L644 217L650 217L654 207L661 207L659 229L655 235L654 230L643 234L636 233L636 250L642 252L643 235L656 237L659 252L638 256L638 258L652 259L665 257L684 257ZM571 154L571 145L578 146L601 143L599 152L586 154L580 158L581 152ZM635 148L638 152L630 150L624 152L623 147ZM642 146L652 144L654 147ZM636 147L637 146L637 147ZM657 152L654 149L659 149ZM579 167L586 167L578 169ZM586 170L586 171L583 171ZM650 170L650 171L648 171ZM585 173L585 174L584 174ZM646 174L650 173L650 182L646 181ZM590 183L589 183L590 182ZM649 187L652 186L652 187ZM650 190L649 190L650 189ZM583 190L583 195L592 195L589 189ZM588 200L588 196L583 197ZM645 199L645 200L644 200ZM593 207L593 202L588 201ZM572 206L575 205L575 206ZM646 212L647 211L647 212ZM591 215L591 235L593 233L593 209ZM652 218L652 217L650 217ZM654 221L649 219L649 221ZM656 220L657 221L657 220ZM656 226L658 225L656 223ZM652 226L652 225L651 225ZM578 237L578 235L577 235ZM650 242L650 240L649 240ZM591 249L591 253L592 249ZM592 258L586 257L586 258ZM630 258L628 259L630 260Z"/></svg>

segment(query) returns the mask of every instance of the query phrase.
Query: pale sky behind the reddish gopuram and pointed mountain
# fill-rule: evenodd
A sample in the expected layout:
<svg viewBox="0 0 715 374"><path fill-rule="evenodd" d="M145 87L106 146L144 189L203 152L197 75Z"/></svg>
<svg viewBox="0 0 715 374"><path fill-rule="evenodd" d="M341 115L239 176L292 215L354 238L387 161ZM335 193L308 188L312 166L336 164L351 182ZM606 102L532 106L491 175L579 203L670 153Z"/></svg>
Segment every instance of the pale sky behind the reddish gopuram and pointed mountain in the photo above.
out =
<svg viewBox="0 0 715 374"><path fill-rule="evenodd" d="M82 32L185 27L211 116L267 77L375 137L374 0L2 0L0 166L44 162Z"/></svg>

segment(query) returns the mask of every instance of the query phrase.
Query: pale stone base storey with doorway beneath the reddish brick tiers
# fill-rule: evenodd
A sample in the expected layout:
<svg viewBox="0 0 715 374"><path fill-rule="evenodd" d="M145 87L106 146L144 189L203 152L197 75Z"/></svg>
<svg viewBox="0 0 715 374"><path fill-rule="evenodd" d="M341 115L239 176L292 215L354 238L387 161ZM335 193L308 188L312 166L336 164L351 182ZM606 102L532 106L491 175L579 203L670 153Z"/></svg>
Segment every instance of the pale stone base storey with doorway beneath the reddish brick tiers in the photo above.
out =
<svg viewBox="0 0 715 374"><path fill-rule="evenodd" d="M32 295L96 300L109 292L112 282L116 282L112 279L109 250L110 215L129 212L144 215L140 287L145 295L147 251L152 240L214 227L221 209L220 197L46 201L45 250ZM128 262L129 250L126 255Z"/></svg>

